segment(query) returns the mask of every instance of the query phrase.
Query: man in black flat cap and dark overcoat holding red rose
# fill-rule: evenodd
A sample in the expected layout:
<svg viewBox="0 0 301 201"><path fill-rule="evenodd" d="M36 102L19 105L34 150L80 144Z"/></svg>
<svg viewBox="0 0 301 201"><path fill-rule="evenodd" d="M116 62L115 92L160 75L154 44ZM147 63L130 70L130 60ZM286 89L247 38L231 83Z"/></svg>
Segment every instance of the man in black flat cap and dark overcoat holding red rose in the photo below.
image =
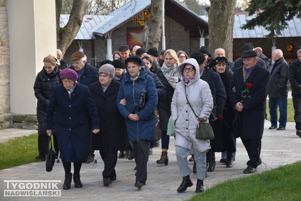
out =
<svg viewBox="0 0 301 201"><path fill-rule="evenodd" d="M257 64L255 50L244 51L241 55L244 66L234 70L227 95L236 109L234 120L235 135L240 137L248 155L249 161L245 174L257 171L261 164L261 139L265 121L266 97L270 89L270 73ZM235 90L233 90L235 88ZM249 92L244 92L245 90ZM243 98L242 96L245 96Z"/></svg>

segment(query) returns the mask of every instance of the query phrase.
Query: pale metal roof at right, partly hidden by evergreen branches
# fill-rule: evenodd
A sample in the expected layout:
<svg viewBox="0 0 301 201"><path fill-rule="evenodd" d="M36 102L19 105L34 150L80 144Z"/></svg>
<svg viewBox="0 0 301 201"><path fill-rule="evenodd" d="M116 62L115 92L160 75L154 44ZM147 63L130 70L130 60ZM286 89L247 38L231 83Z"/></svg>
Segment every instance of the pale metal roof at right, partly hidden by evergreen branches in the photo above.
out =
<svg viewBox="0 0 301 201"><path fill-rule="evenodd" d="M208 22L208 16L201 15L204 20ZM264 27L256 26L252 30L242 30L240 27L246 24L246 20L250 20L256 17L256 15L248 16L246 14L239 14L234 16L233 25L233 38L264 38L269 34ZM301 36L301 20L294 17L293 20L287 21L288 28L281 31L282 35L277 37L297 37Z"/></svg>

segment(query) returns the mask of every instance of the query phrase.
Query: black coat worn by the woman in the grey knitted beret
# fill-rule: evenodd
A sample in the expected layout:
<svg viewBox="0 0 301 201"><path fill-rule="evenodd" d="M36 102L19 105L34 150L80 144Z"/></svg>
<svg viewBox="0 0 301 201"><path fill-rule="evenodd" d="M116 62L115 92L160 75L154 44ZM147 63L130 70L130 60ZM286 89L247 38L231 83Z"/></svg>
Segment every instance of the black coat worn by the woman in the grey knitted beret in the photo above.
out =
<svg viewBox="0 0 301 201"><path fill-rule="evenodd" d="M113 79L104 92L99 81L89 86L100 117L100 132L92 133L92 148L102 152L126 149L129 141L126 120L120 114L116 100L120 83Z"/></svg>

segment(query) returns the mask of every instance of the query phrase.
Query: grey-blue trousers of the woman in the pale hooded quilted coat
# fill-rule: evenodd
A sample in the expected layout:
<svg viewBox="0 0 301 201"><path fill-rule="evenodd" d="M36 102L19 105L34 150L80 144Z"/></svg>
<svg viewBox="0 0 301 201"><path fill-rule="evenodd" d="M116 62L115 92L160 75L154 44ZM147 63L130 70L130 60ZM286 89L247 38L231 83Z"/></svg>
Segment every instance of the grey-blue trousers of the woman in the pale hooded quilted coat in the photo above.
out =
<svg viewBox="0 0 301 201"><path fill-rule="evenodd" d="M192 173L191 168L188 166L187 156L189 155L189 149L182 146L175 146L175 155L177 157L178 166L180 168L182 177L185 177ZM198 152L194 149L194 161L196 162L197 178L205 180L206 174L206 152Z"/></svg>

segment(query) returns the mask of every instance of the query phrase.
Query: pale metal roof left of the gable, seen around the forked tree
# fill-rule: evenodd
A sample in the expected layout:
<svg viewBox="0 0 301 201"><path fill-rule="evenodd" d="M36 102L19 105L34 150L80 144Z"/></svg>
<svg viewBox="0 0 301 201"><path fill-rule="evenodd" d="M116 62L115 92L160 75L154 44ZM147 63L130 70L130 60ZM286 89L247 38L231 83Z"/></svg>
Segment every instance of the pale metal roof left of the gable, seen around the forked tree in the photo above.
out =
<svg viewBox="0 0 301 201"><path fill-rule="evenodd" d="M60 16L60 27L63 28L69 21L69 16L66 14L61 14ZM91 31L93 27L97 26L110 19L110 16L107 15L85 15L82 19L82 25L79 29L79 32L75 36L75 40L91 40L96 39L95 35Z"/></svg>

